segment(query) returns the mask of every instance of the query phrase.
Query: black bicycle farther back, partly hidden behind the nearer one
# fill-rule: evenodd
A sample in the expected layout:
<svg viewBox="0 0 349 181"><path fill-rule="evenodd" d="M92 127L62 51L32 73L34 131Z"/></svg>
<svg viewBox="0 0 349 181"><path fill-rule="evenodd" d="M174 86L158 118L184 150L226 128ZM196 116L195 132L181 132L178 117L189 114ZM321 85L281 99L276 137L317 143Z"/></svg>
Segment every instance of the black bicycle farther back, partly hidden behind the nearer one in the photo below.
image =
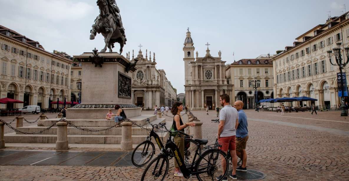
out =
<svg viewBox="0 0 349 181"><path fill-rule="evenodd" d="M155 154L155 145L153 142L151 142L151 138L154 137L156 144L158 145L159 149L163 149L164 145L159 137L159 135L154 131L154 128L160 129L165 126L165 123L163 124L151 124L149 122L149 119L147 119L147 122L152 126L152 129L148 136L146 137L146 141L143 141L142 143L138 144L136 148L132 152L131 161L134 166L141 167L146 165L151 158L153 158ZM194 151L194 146L191 146L191 144L196 145L198 144L196 141L192 140L193 135L188 135L185 137L184 145L184 155L185 160L184 162L186 164L191 163L192 157L191 153ZM199 148L200 149L200 148ZM201 149L199 150L199 153L201 154Z"/></svg>

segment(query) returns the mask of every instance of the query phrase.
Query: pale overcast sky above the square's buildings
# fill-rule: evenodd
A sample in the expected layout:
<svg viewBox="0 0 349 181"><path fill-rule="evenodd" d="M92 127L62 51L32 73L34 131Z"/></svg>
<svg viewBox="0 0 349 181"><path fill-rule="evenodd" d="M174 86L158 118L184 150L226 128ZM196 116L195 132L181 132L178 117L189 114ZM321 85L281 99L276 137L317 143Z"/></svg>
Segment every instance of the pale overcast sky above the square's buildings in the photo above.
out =
<svg viewBox="0 0 349 181"><path fill-rule="evenodd" d="M343 14L344 0L232 1L232 0L117 0L127 45L122 55L135 50L156 54L157 69L164 69L177 94L184 92L183 43L190 27L195 52L222 60L255 58L291 46L295 38L331 16ZM349 3L347 3L349 10ZM99 9L96 0L0 0L0 24L69 55L104 47L103 36L90 40ZM119 45L113 50L118 52ZM153 55L152 55L153 56Z"/></svg>

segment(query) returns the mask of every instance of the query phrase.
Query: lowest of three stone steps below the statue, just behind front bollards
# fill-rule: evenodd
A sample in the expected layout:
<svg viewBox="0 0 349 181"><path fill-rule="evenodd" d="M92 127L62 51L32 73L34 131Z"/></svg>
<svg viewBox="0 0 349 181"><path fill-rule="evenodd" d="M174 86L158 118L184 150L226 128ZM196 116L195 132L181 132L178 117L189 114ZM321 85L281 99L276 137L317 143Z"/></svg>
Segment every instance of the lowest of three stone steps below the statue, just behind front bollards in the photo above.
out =
<svg viewBox="0 0 349 181"><path fill-rule="evenodd" d="M54 134L5 134L6 143L55 143L57 135ZM139 144L148 135L132 135L132 144ZM160 139L164 142L168 138L168 133L159 133ZM155 140L152 140L155 142ZM121 135L68 135L68 143L80 144L120 144ZM154 143L156 144L156 143Z"/></svg>

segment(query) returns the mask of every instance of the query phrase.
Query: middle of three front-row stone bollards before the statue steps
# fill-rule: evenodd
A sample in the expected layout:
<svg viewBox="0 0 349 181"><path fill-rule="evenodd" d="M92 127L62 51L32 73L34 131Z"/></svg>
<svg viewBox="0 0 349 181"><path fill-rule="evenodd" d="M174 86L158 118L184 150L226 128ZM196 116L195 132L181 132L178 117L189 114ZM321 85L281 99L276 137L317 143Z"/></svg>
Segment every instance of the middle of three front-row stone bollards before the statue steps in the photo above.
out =
<svg viewBox="0 0 349 181"><path fill-rule="evenodd" d="M64 151L69 149L67 125L68 123L64 121L59 121L58 123L56 123L56 126L57 126L56 150L57 151Z"/></svg>

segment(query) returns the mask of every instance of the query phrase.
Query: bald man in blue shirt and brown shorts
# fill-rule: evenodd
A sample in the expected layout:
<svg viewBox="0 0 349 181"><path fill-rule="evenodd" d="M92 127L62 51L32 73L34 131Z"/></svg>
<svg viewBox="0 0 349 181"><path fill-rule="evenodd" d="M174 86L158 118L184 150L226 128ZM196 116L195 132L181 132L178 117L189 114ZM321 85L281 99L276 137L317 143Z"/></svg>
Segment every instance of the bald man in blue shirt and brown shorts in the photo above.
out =
<svg viewBox="0 0 349 181"><path fill-rule="evenodd" d="M236 129L236 155L242 160L242 166L236 168L237 171L247 172L246 162L246 142L248 140L248 129L247 129L247 116L242 110L244 103L242 101L236 101L234 107L238 110L239 123Z"/></svg>

